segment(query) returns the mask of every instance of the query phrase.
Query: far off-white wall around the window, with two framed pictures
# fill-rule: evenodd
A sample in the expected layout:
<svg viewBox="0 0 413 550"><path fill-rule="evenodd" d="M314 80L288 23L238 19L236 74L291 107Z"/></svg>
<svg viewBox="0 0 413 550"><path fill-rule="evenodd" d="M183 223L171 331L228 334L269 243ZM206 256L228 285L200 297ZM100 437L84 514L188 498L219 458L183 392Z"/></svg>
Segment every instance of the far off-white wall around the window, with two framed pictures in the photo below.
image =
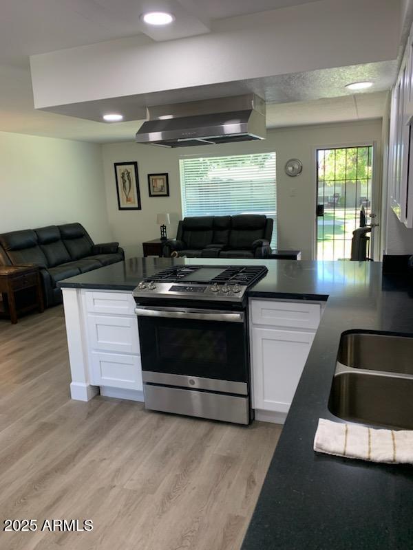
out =
<svg viewBox="0 0 413 550"><path fill-rule="evenodd" d="M277 153L277 210L278 248L297 249L303 259L314 257L315 249L315 149L377 142L380 157L381 120L301 126L268 131L262 142L200 146L185 149L167 149L136 143L104 144L103 168L107 191L107 209L110 228L122 244L142 243L156 239L158 212L173 213L169 235L176 235L176 224L181 218L179 159L184 155L237 155L275 151ZM304 169L296 178L284 173L284 164L292 157L303 162ZM142 210L118 210L114 180L114 162L138 162ZM378 170L380 167L378 168ZM149 197L147 174L169 173L169 198ZM378 181L380 184L380 181Z"/></svg>

